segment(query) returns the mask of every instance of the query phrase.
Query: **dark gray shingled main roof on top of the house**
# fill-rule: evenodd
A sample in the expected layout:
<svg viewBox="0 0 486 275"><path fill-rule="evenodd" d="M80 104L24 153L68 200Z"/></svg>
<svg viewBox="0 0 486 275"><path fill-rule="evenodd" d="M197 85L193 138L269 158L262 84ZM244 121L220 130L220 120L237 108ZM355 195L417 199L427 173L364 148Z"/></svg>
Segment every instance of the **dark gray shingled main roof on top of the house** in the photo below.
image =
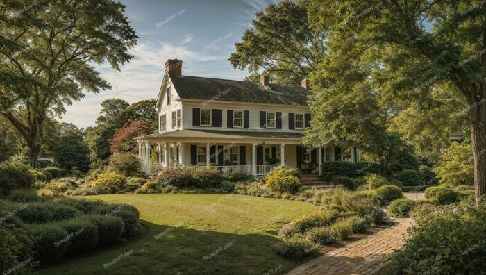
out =
<svg viewBox="0 0 486 275"><path fill-rule="evenodd" d="M271 90L260 83L198 76L169 74L181 99L271 103L307 106L309 91L301 86L270 83Z"/></svg>

